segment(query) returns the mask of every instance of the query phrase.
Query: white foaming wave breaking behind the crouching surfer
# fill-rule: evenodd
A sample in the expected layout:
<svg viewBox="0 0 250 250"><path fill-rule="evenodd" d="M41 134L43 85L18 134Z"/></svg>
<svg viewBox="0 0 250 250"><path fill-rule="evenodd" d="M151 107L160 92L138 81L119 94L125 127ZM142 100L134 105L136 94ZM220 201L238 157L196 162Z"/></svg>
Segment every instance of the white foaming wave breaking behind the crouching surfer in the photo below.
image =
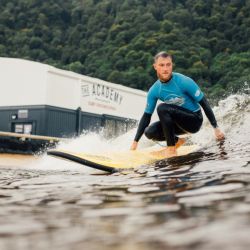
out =
<svg viewBox="0 0 250 250"><path fill-rule="evenodd" d="M226 139L237 141L238 143L248 143L250 134L250 95L234 94L219 101L218 106L213 108L217 122L222 131L225 132ZM85 131L80 137L69 140L67 143L60 143L58 148L75 152L85 151L88 153L101 153L105 151L128 150L136 128L115 138L106 139L103 131L99 133ZM213 128L204 115L204 122L201 130L188 136L191 144L198 144L202 147L209 147L216 143ZM145 136L142 137L139 147L151 146L152 141Z"/></svg>

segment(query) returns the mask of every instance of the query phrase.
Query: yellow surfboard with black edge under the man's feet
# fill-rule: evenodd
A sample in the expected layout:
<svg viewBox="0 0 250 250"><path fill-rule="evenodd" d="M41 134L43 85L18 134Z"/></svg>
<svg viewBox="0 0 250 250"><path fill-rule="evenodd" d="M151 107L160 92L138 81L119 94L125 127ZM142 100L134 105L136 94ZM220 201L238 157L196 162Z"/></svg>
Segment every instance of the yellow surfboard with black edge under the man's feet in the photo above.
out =
<svg viewBox="0 0 250 250"><path fill-rule="evenodd" d="M197 148L197 145L181 146L177 149L177 157L192 153L197 150ZM159 148L157 150L159 150ZM153 147L150 147L143 150L88 154L58 149L49 150L47 154L77 162L91 168L114 173L125 169L133 169L142 165L153 164L156 161L167 158L155 156L153 152L157 150Z"/></svg>

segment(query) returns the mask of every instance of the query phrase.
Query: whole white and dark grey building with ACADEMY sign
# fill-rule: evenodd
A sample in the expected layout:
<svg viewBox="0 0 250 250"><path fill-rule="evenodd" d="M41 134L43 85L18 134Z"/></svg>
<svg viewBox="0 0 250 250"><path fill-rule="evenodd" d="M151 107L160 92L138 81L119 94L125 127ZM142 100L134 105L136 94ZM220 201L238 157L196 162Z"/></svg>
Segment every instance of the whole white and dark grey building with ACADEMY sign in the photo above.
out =
<svg viewBox="0 0 250 250"><path fill-rule="evenodd" d="M140 119L146 93L23 59L0 58L0 131L69 137Z"/></svg>

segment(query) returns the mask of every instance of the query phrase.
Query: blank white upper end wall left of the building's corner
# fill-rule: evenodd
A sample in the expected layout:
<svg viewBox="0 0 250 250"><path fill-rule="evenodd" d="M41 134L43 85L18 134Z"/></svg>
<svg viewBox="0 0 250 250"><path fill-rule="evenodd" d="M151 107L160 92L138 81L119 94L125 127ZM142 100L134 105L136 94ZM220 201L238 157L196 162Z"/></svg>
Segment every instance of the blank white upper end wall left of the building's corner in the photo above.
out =
<svg viewBox="0 0 250 250"><path fill-rule="evenodd" d="M47 65L0 58L0 107L46 104Z"/></svg>

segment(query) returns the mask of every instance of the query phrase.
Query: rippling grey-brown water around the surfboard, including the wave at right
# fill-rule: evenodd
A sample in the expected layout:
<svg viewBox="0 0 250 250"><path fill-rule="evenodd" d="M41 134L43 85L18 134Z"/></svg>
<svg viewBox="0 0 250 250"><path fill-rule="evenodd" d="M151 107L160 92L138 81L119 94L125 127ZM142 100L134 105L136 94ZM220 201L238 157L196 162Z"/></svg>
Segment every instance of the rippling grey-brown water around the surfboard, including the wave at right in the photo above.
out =
<svg viewBox="0 0 250 250"><path fill-rule="evenodd" d="M249 249L249 96L214 110L223 143L205 122L191 139L198 152L135 171L110 175L48 156L0 163L0 249ZM112 147L97 135L62 147L83 142Z"/></svg>

